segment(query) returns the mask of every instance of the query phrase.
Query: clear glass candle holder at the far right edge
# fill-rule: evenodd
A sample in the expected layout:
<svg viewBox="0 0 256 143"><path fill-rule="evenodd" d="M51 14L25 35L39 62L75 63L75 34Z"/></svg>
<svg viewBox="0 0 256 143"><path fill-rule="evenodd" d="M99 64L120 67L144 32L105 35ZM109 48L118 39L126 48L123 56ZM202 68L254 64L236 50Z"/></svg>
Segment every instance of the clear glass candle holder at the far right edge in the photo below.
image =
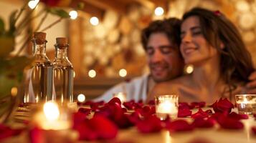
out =
<svg viewBox="0 0 256 143"><path fill-rule="evenodd" d="M238 94L235 99L239 114L256 114L256 94Z"/></svg>

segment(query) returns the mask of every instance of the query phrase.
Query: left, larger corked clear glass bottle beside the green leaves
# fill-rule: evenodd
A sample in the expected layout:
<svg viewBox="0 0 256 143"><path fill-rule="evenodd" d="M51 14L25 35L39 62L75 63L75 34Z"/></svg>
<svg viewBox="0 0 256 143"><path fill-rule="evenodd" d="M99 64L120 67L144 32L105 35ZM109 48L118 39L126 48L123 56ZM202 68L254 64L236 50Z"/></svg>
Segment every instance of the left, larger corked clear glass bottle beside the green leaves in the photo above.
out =
<svg viewBox="0 0 256 143"><path fill-rule="evenodd" d="M24 103L47 102L52 99L52 64L46 56L46 33L34 32L34 61L27 70Z"/></svg>

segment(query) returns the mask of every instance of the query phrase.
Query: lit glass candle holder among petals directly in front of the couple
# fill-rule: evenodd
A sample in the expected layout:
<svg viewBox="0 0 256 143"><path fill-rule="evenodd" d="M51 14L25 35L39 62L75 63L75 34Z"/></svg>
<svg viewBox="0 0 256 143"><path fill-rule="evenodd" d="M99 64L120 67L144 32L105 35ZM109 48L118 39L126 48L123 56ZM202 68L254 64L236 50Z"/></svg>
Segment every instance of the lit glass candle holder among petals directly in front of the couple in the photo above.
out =
<svg viewBox="0 0 256 143"><path fill-rule="evenodd" d="M163 120L168 116L175 119L178 114L179 97L177 95L160 95L155 97L156 116Z"/></svg>

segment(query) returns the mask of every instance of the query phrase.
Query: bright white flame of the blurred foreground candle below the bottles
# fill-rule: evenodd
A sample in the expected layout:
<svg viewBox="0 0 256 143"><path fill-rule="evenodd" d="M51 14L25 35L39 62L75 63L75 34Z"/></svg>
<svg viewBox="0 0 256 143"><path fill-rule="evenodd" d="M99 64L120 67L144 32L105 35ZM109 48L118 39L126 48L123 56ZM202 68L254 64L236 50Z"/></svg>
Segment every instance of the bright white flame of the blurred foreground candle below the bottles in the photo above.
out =
<svg viewBox="0 0 256 143"><path fill-rule="evenodd" d="M56 121L60 117L60 111L57 104L54 102L45 103L44 115L48 121Z"/></svg>

